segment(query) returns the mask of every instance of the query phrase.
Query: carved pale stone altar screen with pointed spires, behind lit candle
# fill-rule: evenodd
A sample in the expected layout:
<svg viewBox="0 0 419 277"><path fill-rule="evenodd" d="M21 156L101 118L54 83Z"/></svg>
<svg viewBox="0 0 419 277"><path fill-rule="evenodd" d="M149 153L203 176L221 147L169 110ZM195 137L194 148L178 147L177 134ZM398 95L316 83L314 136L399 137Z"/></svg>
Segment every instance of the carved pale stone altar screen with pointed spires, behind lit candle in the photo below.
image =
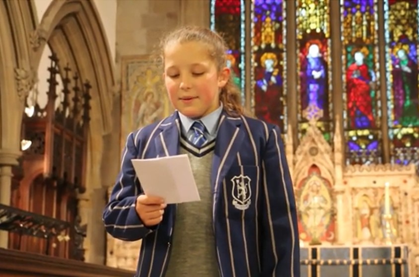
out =
<svg viewBox="0 0 419 277"><path fill-rule="evenodd" d="M344 165L339 118L331 146L317 128L321 113L307 108L309 128L295 152L290 127L285 140L300 246L407 246L409 276L419 276L419 182L414 165Z"/></svg>

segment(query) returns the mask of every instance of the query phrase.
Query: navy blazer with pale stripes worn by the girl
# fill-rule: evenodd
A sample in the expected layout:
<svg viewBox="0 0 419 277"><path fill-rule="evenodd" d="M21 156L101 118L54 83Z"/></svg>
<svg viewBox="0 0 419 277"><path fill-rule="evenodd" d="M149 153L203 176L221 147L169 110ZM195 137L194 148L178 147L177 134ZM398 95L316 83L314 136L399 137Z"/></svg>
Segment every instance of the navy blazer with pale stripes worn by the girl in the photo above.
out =
<svg viewBox="0 0 419 277"><path fill-rule="evenodd" d="M143 239L136 277L165 275L176 205L167 206L157 226L141 223L135 203L142 190L131 159L176 155L179 137L177 112L131 133L103 212L113 237ZM299 277L297 213L279 128L223 112L215 141L210 181L220 276Z"/></svg>

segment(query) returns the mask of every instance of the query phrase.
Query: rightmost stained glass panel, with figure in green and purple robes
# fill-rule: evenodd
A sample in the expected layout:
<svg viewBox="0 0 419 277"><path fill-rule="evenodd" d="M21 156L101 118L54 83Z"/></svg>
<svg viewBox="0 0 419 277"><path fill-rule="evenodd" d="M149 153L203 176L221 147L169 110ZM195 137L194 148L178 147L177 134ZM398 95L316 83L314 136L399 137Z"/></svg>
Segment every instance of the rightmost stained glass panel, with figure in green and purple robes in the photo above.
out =
<svg viewBox="0 0 419 277"><path fill-rule="evenodd" d="M418 0L385 0L388 127L392 162L419 165Z"/></svg>

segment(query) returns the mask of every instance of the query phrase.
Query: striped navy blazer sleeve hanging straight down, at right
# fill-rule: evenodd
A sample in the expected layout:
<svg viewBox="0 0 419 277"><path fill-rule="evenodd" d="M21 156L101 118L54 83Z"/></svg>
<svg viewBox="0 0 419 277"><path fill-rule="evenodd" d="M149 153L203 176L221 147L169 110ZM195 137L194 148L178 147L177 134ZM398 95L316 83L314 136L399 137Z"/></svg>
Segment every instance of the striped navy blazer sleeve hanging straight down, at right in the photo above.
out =
<svg viewBox="0 0 419 277"><path fill-rule="evenodd" d="M262 277L300 277L297 211L278 126L262 156Z"/></svg>

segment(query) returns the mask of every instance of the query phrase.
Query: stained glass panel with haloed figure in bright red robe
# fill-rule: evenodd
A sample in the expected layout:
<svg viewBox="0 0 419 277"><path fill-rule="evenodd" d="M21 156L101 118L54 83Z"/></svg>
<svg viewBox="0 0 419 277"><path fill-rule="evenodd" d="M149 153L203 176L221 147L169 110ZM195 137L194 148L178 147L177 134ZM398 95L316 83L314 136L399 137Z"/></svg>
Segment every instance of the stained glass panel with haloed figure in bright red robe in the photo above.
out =
<svg viewBox="0 0 419 277"><path fill-rule="evenodd" d="M377 0L341 0L344 129L348 164L379 163Z"/></svg>

